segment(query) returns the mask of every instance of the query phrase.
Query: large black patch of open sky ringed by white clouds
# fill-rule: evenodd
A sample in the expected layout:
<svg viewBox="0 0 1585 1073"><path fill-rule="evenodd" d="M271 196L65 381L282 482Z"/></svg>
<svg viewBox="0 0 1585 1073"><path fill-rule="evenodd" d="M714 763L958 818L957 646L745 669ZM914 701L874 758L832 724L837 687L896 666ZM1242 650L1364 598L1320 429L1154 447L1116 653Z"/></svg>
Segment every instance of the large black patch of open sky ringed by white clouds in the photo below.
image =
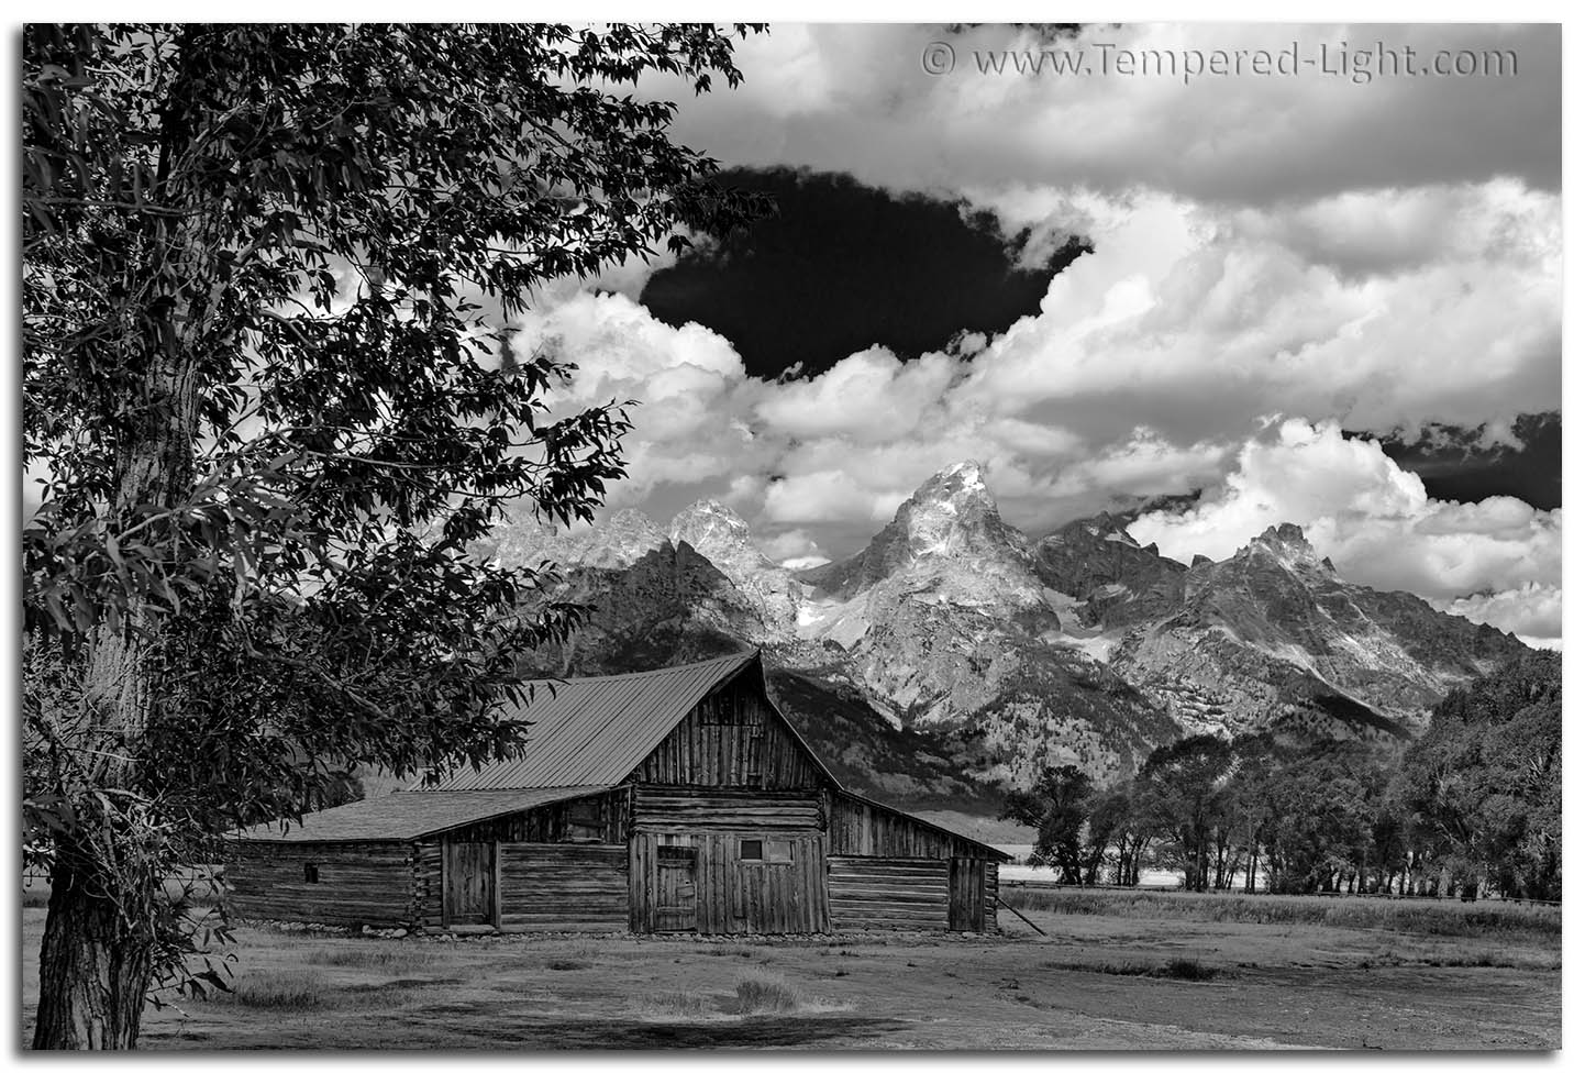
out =
<svg viewBox="0 0 1585 1073"><path fill-rule="evenodd" d="M1038 312L1051 274L1081 254L1021 269L1021 236L994 217L842 174L728 171L721 184L769 193L777 216L658 271L642 301L669 325L726 336L766 379L799 363L823 372L875 344L913 358L962 331L1003 331Z"/></svg>

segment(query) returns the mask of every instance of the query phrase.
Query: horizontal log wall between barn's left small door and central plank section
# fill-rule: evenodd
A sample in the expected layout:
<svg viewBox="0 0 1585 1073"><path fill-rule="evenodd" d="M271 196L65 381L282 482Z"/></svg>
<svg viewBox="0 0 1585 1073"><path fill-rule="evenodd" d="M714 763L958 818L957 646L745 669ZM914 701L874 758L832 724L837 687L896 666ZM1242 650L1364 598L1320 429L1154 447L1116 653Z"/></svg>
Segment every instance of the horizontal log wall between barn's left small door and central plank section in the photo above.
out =
<svg viewBox="0 0 1585 1073"><path fill-rule="evenodd" d="M501 843L501 930L628 930L628 846Z"/></svg>

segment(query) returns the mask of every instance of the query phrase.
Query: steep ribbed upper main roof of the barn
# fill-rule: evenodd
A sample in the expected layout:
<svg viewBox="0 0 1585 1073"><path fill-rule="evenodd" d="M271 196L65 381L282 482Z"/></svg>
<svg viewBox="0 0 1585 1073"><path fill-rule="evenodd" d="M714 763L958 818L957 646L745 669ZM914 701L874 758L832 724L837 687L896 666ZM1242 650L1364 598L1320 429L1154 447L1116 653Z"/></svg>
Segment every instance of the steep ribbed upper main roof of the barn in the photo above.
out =
<svg viewBox="0 0 1585 1073"><path fill-rule="evenodd" d="M520 758L455 772L433 788L415 785L411 789L441 792L620 783L712 689L758 659L758 651L743 651L604 678L526 682L531 699L507 710L509 718L531 724ZM819 759L815 758L815 762L819 764Z"/></svg>

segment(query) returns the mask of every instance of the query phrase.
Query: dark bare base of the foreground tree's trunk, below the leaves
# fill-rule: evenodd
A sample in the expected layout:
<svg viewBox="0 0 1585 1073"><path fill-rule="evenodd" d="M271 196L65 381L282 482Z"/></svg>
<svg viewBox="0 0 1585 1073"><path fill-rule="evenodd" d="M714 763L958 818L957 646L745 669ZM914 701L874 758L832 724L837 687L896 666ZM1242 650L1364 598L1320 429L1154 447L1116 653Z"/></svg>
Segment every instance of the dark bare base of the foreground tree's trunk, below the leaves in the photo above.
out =
<svg viewBox="0 0 1585 1073"><path fill-rule="evenodd" d="M68 865L51 873L49 918L38 954L38 1019L33 1049L128 1051L149 991L154 943L147 929L128 927L127 913L98 897ZM138 892L135 902L143 900Z"/></svg>

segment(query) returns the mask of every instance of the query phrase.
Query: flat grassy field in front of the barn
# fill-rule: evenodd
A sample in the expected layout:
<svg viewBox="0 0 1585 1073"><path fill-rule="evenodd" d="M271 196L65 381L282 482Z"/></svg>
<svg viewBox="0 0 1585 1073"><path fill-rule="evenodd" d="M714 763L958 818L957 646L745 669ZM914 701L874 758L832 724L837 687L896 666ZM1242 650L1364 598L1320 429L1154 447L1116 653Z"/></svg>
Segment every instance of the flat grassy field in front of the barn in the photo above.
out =
<svg viewBox="0 0 1585 1073"><path fill-rule="evenodd" d="M1000 937L380 940L243 927L233 994L143 1046L1533 1049L1561 915L1503 903L1010 891ZM24 908L24 1038L44 911Z"/></svg>

